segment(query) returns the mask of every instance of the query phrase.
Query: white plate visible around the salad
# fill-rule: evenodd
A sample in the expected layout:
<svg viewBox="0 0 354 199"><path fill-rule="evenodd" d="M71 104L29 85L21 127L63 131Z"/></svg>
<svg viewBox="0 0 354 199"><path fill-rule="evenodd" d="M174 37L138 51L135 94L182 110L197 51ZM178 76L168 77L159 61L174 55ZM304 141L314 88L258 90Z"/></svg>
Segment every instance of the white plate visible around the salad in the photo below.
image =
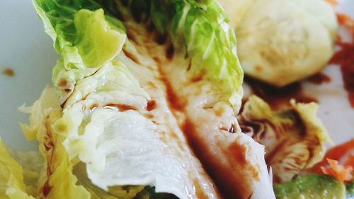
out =
<svg viewBox="0 0 354 199"><path fill-rule="evenodd" d="M354 17L354 1L340 1L338 9ZM52 40L45 35L31 1L0 1L0 70L10 67L15 76L0 74L0 136L15 149L35 149L26 142L18 122L26 123L28 115L18 106L31 105L50 84L52 67L57 55ZM350 13L351 12L351 13ZM334 142L354 137L354 109L350 108L339 67L327 67L329 84L316 86L306 83L305 92L319 98L319 117L324 121Z"/></svg>

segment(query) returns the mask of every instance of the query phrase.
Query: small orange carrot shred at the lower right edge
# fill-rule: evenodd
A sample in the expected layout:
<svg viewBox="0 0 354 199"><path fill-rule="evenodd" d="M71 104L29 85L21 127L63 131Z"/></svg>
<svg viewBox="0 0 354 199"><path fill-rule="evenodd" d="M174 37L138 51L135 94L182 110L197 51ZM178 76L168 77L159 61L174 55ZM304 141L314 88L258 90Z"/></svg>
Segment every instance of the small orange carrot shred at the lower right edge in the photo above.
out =
<svg viewBox="0 0 354 199"><path fill-rule="evenodd" d="M324 174L333 176L338 181L351 181L353 180L353 167L342 166L338 164L338 161L327 158L330 167L321 166L321 170Z"/></svg>

